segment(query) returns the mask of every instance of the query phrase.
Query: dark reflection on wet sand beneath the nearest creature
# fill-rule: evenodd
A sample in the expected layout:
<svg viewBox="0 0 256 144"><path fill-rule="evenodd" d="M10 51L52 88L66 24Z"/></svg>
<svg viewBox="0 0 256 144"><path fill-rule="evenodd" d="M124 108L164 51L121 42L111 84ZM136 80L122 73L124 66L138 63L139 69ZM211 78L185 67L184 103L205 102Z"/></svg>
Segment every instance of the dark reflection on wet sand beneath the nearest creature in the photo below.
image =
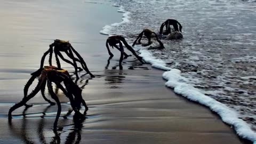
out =
<svg viewBox="0 0 256 144"><path fill-rule="evenodd" d="M49 109L51 106L48 106L44 109L45 113L47 109ZM25 113L26 110L23 111ZM37 136L39 138L39 142L41 143L61 143L60 136L62 133L65 133L65 131L49 131L47 129L44 130L45 124L45 118L44 115L41 116L41 120L38 122L37 127ZM65 142L63 143L80 143L81 142L81 130L83 127L85 119L81 119L78 115L73 116L73 127L71 129L68 129L69 134L67 135ZM27 122L27 118L22 118L22 123L20 130L18 127L15 127L12 125L11 121L9 121L9 129L10 131L17 137L19 137L23 142L25 143L38 143L30 133L34 133L34 129L29 129L29 122ZM69 125L67 125L69 126ZM52 133L53 136L49 139L49 133ZM45 136L45 134L47 136ZM47 140L51 140L50 142Z"/></svg>

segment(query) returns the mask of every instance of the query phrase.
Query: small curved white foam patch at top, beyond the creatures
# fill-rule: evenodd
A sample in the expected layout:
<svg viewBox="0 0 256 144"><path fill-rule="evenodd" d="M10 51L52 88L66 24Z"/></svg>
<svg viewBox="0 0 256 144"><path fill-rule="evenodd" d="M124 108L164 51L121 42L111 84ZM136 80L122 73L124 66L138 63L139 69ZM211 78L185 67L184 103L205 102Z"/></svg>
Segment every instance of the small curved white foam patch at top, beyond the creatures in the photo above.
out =
<svg viewBox="0 0 256 144"><path fill-rule="evenodd" d="M115 5L117 6L117 5ZM119 9L117 10L118 12L121 12L121 13L124 13L123 14L123 18L121 22L116 22L116 23L112 23L110 26L109 25L106 25L102 28L102 30L100 30L100 34L102 35L109 35L110 34L110 31L113 29L113 27L116 27L116 26L119 26L119 25L122 25L123 23L127 23L127 22L130 22L130 12L127 12L127 11L124 11L124 7L123 6L119 6Z"/></svg>

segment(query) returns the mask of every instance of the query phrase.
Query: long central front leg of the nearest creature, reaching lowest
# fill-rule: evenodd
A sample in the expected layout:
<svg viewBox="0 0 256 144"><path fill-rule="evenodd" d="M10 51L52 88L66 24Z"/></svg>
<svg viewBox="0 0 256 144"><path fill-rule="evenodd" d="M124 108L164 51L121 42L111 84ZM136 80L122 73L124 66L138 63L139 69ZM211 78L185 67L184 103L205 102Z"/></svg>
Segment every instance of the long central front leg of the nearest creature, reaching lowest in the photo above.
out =
<svg viewBox="0 0 256 144"><path fill-rule="evenodd" d="M53 92L52 83L49 80L47 80L47 87L49 89L49 92L51 94L52 99L54 99L57 102L57 105L58 105L57 115L56 115L56 118L55 118L55 121L54 121L54 124L53 124L53 130L56 131L57 130L58 120L59 120L60 113L61 113L60 100L57 97L57 95Z"/></svg>

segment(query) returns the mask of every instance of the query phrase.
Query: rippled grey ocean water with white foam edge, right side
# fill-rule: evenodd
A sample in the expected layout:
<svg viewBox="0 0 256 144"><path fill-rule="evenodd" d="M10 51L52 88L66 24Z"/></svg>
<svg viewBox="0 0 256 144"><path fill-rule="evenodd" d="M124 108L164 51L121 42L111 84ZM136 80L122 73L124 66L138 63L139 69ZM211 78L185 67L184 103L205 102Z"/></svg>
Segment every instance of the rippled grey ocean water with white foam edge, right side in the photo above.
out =
<svg viewBox="0 0 256 144"><path fill-rule="evenodd" d="M123 21L101 34L124 35L129 43L145 28L159 30L177 19L184 39L164 41L164 50L135 46L166 71L166 86L210 107L237 134L256 141L256 1L115 1Z"/></svg>

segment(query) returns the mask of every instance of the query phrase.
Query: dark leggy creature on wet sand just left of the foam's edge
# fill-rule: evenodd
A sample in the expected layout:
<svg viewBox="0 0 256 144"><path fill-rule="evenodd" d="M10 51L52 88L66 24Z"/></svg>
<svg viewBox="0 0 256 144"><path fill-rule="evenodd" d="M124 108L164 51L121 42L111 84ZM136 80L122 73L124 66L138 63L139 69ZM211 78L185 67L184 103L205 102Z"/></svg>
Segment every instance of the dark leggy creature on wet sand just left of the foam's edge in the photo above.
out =
<svg viewBox="0 0 256 144"><path fill-rule="evenodd" d="M129 55L127 55L124 52L124 47L123 44L126 46L126 48L132 52L132 54L142 63L144 64L142 57L140 57L133 49L132 47L125 41L125 38L123 36L120 35L116 35L116 36L110 36L108 37L107 41L106 41L106 46L108 49L108 54L110 55L110 58L112 58L114 56L113 53L110 52L109 46L111 46L113 49L114 47L116 47L117 50L119 50L121 52L121 57L119 59L119 67L122 68L122 61L123 61L123 57L128 57ZM116 45L119 44L119 47ZM109 45L109 46L108 46Z"/></svg>

